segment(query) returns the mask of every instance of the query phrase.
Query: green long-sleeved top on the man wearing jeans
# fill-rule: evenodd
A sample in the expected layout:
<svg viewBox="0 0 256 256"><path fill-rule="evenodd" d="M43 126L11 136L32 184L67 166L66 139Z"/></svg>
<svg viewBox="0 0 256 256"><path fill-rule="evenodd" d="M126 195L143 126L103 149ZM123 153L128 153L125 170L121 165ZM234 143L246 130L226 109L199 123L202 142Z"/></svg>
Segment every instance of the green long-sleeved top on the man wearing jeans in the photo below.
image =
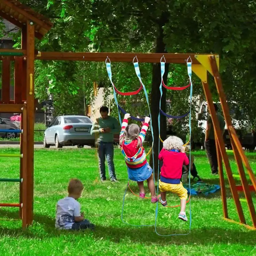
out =
<svg viewBox="0 0 256 256"><path fill-rule="evenodd" d="M98 122L97 122L98 120ZM103 141L103 142L113 142L114 141L114 134L120 133L120 125L117 122L116 118L112 116L108 116L108 118L103 119L102 117L97 118L96 122L93 123L92 125L92 130L91 134L98 134L98 141ZM106 129L110 128L111 131L109 133L101 133L100 129Z"/></svg>

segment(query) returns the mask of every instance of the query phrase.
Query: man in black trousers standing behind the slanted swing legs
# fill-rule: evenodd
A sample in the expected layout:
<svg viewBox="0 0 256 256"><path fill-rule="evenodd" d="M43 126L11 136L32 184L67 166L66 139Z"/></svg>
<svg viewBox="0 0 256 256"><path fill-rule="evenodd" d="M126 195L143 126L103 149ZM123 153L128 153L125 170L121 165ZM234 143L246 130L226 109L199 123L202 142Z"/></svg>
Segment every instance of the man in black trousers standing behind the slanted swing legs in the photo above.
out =
<svg viewBox="0 0 256 256"><path fill-rule="evenodd" d="M220 124L221 134L223 134L224 128L225 128L224 117L221 116L220 113L218 112L217 104L214 103L213 105L214 105L216 115ZM215 145L214 128L212 124L212 118L210 115L207 118L204 148L211 165L212 174L218 174L218 160L217 160L217 152L216 152L216 145Z"/></svg>

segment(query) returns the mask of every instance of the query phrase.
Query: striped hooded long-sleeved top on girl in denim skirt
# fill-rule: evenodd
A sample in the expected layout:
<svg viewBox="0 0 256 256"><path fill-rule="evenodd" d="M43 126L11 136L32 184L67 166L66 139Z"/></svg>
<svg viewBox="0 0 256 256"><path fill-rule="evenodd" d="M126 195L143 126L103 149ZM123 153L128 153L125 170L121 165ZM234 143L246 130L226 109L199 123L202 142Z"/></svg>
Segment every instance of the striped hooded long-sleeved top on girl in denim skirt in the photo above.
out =
<svg viewBox="0 0 256 256"><path fill-rule="evenodd" d="M124 136L124 130L128 125L128 119L124 119L122 123L122 130L120 132L119 139L121 140ZM120 144L121 151L124 155L125 163L130 168L139 168L147 163L146 153L142 146L145 140L145 135L148 130L148 123L144 123L136 140L126 140L124 139L122 144ZM141 147L138 148L138 141L140 140Z"/></svg>

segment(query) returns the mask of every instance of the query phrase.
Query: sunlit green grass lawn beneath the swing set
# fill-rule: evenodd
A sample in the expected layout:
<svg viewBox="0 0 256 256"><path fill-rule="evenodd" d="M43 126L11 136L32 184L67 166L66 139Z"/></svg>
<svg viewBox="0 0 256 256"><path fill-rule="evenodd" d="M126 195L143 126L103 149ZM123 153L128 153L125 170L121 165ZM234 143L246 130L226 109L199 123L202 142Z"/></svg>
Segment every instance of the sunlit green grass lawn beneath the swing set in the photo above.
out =
<svg viewBox="0 0 256 256"><path fill-rule="evenodd" d="M1 149L0 153L18 153L18 149ZM218 184L218 177L210 174L204 151L198 151L196 166L207 183ZM237 174L234 157L229 153L231 167ZM248 153L252 168L256 169L256 154ZM3 178L19 176L19 159L0 158ZM161 237L154 227L132 227L121 220L122 199L127 184L124 159L115 150L115 166L119 183L99 182L95 150L36 150L34 224L21 231L17 209L0 208L0 255L256 255L256 231L222 220L220 192L211 196L192 196L192 227L187 236ZM94 232L57 231L54 228L56 202L67 195L67 184L78 178L84 184L79 202L85 217L96 225ZM240 184L236 178L236 183ZM145 184L146 185L146 184ZM133 191L138 193L134 182ZM256 206L255 193L253 195ZM147 195L148 196L148 190ZM238 221L235 204L228 189L228 214ZM243 194L240 195L244 197ZM0 202L18 203L19 184L0 183ZM167 197L169 205L179 204L174 195ZM241 202L244 215L251 225L247 205ZM187 216L189 217L189 204ZM140 200L129 191L125 197L124 220L135 225L155 222L156 204ZM164 208L159 204L157 231L160 234L186 234L189 222L177 218L179 208Z"/></svg>

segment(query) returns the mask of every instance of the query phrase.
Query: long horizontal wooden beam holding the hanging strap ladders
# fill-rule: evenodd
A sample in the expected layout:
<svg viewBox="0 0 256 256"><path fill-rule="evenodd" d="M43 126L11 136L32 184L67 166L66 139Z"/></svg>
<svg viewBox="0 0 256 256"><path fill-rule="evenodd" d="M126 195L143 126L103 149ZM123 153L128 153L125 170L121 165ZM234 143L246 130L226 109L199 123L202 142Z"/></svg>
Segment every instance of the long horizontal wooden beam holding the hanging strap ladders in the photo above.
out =
<svg viewBox="0 0 256 256"><path fill-rule="evenodd" d="M165 57L167 63L186 64L189 56L195 64L200 64L195 54L187 53L126 53L126 52L39 52L37 60L76 60L76 61L105 61L107 56L112 62L132 62L137 56L139 62L158 63Z"/></svg>

